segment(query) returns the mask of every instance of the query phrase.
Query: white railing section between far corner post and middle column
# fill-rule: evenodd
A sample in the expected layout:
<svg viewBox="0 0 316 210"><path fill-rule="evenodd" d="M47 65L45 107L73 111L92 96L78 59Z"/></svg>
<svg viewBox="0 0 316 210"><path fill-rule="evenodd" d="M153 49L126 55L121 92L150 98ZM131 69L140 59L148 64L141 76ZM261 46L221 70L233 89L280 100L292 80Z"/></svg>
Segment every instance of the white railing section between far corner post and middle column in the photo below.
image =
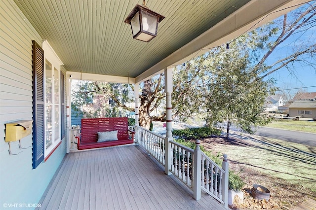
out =
<svg viewBox="0 0 316 210"><path fill-rule="evenodd" d="M135 141L164 166L164 137L140 126L135 126Z"/></svg>

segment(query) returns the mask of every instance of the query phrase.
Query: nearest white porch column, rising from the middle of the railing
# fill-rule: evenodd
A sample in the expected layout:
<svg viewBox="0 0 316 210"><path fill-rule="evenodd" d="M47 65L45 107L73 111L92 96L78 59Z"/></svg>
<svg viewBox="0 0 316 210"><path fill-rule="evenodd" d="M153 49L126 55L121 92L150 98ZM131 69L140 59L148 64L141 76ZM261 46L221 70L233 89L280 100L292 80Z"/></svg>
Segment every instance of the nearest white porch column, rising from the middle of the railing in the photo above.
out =
<svg viewBox="0 0 316 210"><path fill-rule="evenodd" d="M165 145L165 169L166 175L171 175L171 164L172 164L172 152L171 145L169 144L172 138L172 105L171 105L171 93L172 93L172 69L166 68L164 71L164 92L166 93L166 137L164 139Z"/></svg>

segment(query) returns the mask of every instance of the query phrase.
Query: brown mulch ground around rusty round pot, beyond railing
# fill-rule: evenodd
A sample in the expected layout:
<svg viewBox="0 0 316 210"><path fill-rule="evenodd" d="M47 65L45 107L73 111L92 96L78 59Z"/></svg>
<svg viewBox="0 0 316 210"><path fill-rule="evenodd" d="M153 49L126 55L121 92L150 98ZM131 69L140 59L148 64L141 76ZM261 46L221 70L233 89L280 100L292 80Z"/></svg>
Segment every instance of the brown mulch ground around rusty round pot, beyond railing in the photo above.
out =
<svg viewBox="0 0 316 210"><path fill-rule="evenodd" d="M226 140L222 137L213 137L204 139L201 141L205 149L212 151L216 154L217 152L222 152L227 150L230 145L239 146L251 146L251 142L248 140L239 139L236 137ZM226 148L225 148L226 147ZM251 155L251 154L249 154ZM308 197L316 197L316 192L313 195L306 193L307 189L300 185L293 185L288 183L286 180L281 178L276 178L273 176L265 175L254 169L254 166L247 167L234 161L234 157L229 156L230 159L230 169L239 172L240 177L246 183L243 188L243 204L236 205L235 203L230 206L234 210L249 210L249 209L282 209L290 210L293 207L299 205ZM268 188L271 192L271 197L269 201L258 201L252 198L251 189L253 184L260 184Z"/></svg>

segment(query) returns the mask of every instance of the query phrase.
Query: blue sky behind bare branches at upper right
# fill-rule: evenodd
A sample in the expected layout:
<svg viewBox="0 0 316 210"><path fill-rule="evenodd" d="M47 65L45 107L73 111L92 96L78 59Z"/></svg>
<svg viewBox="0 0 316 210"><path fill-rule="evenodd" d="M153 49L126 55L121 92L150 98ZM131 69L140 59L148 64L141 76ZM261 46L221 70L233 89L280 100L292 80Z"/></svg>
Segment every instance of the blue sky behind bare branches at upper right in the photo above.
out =
<svg viewBox="0 0 316 210"><path fill-rule="evenodd" d="M282 18L282 17L280 17ZM313 18L316 21L316 17ZM315 23L314 23L315 25ZM286 55L290 55L293 47L304 46L308 43L316 42L316 26L312 26L304 33L297 33L291 35L288 40L280 44L273 54L271 54L268 63L274 63L279 58L284 58ZM315 55L314 55L315 56ZM309 58L311 60L311 58ZM314 57L314 65L315 64ZM276 86L279 89L291 89L291 88L303 88L307 92L316 92L316 70L311 66L306 65L304 62L299 62L291 67L292 71L282 68L272 73L270 77L276 79ZM310 87L315 86L315 87ZM310 88L304 88L310 87ZM277 92L279 93L279 92Z"/></svg>

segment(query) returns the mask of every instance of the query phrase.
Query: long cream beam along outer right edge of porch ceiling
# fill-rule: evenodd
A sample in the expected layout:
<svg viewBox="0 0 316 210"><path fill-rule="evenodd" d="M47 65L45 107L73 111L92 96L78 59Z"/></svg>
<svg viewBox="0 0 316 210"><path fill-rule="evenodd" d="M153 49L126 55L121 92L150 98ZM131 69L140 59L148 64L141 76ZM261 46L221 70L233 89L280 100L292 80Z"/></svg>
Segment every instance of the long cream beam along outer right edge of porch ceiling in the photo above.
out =
<svg viewBox="0 0 316 210"><path fill-rule="evenodd" d="M251 0L211 29L137 76L135 83L141 83L163 72L165 68L180 65L198 55L202 55L209 51L210 48L220 46L309 1L274 0L268 3L267 0Z"/></svg>

